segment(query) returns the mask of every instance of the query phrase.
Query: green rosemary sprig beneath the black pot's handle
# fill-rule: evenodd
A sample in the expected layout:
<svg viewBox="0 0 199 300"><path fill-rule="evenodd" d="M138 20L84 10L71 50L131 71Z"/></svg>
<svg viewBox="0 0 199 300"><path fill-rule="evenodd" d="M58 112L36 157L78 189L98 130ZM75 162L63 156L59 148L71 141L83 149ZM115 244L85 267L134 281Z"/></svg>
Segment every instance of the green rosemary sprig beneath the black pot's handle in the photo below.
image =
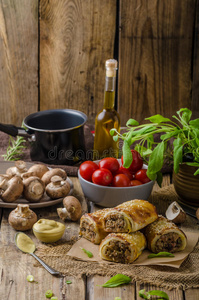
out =
<svg viewBox="0 0 199 300"><path fill-rule="evenodd" d="M18 136L16 139L10 136L6 154L2 154L3 159L6 161L21 159L21 156L24 154L24 149L27 148L25 142L26 140L21 136Z"/></svg>

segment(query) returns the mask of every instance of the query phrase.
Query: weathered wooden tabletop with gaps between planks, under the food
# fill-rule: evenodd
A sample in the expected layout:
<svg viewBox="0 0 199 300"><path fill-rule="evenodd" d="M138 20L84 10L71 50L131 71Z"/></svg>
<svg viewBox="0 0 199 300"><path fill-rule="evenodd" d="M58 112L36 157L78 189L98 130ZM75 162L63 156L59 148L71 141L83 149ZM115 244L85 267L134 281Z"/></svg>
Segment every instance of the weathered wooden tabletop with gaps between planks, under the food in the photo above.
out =
<svg viewBox="0 0 199 300"><path fill-rule="evenodd" d="M74 184L74 195L83 200L83 209L86 210L86 201L82 194L79 181L71 177ZM170 184L170 176L165 175L163 186ZM155 184L154 191L159 189ZM58 220L56 208L61 205L48 208L35 209L38 218L54 218ZM95 207L92 207L95 209ZM157 207L158 209L158 207ZM162 209L162 208L161 208ZM14 236L16 231L8 224L8 215L11 209L0 208L1 233L0 233L0 299L6 300L42 300L45 298L45 292L52 289L59 300L114 300L115 297L121 297L122 300L139 300L140 289L161 289L164 290L170 300L198 300L199 289L183 290L165 290L155 285L131 283L122 287L105 289L98 285L105 283L109 277L91 276L75 278L73 276L55 277L50 275L43 267L35 267L35 259L28 254L23 254L17 250L14 245ZM191 218L191 217L189 217ZM193 219L193 218L192 218ZM193 230L198 230L197 220L193 219ZM64 235L64 239L69 240L71 236L78 235L77 223L69 223L70 231ZM31 231L28 234L33 237ZM35 238L33 237L35 240ZM36 241L36 240L35 240ZM38 243L38 241L36 241ZM34 275L38 283L29 283L26 280L28 274ZM70 280L71 284L66 284Z"/></svg>

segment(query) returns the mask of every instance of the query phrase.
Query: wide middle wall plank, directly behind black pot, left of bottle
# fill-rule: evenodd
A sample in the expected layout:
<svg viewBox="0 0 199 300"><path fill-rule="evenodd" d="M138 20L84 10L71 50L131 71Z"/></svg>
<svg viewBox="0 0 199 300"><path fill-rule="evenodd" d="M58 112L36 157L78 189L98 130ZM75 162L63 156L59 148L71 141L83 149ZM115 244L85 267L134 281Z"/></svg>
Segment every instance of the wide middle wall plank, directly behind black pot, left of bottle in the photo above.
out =
<svg viewBox="0 0 199 300"><path fill-rule="evenodd" d="M72 108L94 123L113 57L116 1L40 1L40 108Z"/></svg>

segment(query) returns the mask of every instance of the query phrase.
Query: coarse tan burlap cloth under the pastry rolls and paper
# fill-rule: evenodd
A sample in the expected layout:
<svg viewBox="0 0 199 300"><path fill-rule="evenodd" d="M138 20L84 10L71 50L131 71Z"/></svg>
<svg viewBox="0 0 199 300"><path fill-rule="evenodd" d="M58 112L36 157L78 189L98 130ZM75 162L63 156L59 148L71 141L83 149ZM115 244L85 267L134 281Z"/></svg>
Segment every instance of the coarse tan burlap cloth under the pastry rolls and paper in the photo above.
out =
<svg viewBox="0 0 199 300"><path fill-rule="evenodd" d="M176 200L176 194L173 185L162 188L153 193L153 203L161 201L162 206ZM166 201L166 203L165 203ZM193 222L193 218L188 217L185 227ZM197 221L194 220L196 223ZM193 224L192 224L193 225ZM197 223L196 223L197 226ZM42 244L38 247L36 254L42 258L47 264L59 270L63 275L82 276L82 275L102 275L113 276L118 273L125 274L132 278L132 281L140 283L151 283L157 286L172 288L198 288L199 287L199 243L182 263L179 269L165 266L134 266L124 264L102 264L97 262L85 262L75 260L67 256L67 252L73 243L57 243L54 245Z"/></svg>

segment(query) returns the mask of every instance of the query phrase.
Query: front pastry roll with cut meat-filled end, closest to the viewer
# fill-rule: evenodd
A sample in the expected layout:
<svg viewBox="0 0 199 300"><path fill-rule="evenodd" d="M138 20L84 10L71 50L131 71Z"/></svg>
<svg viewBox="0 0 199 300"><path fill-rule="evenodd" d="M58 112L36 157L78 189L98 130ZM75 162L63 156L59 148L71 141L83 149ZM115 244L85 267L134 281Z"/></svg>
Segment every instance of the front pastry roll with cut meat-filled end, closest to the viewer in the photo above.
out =
<svg viewBox="0 0 199 300"><path fill-rule="evenodd" d="M132 263L146 247L146 238L140 231L133 233L110 233L101 242L102 259L122 264Z"/></svg>

